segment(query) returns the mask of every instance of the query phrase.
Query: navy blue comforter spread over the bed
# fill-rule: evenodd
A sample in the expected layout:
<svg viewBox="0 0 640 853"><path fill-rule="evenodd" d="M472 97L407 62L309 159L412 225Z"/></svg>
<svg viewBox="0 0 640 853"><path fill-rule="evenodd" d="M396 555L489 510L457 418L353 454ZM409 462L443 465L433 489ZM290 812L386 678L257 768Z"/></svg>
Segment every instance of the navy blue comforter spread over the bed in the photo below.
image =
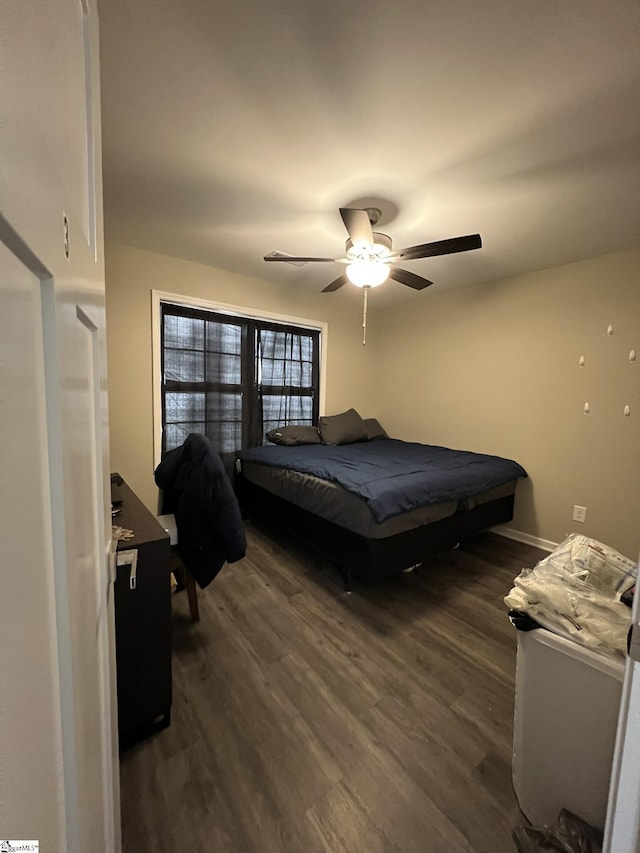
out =
<svg viewBox="0 0 640 853"><path fill-rule="evenodd" d="M380 439L333 447L276 445L242 459L338 483L364 498L377 522L428 504L463 500L526 477L517 462L464 450Z"/></svg>

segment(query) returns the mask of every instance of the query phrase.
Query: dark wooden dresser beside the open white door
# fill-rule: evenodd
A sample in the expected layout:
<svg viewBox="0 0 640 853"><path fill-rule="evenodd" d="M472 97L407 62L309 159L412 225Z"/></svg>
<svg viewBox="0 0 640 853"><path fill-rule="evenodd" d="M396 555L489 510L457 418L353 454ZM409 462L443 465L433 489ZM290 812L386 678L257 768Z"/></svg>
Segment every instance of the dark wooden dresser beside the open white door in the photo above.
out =
<svg viewBox="0 0 640 853"><path fill-rule="evenodd" d="M111 475L111 500L120 509L112 523L134 533L118 541L114 598L118 732L125 748L171 722L171 547L118 474Z"/></svg>

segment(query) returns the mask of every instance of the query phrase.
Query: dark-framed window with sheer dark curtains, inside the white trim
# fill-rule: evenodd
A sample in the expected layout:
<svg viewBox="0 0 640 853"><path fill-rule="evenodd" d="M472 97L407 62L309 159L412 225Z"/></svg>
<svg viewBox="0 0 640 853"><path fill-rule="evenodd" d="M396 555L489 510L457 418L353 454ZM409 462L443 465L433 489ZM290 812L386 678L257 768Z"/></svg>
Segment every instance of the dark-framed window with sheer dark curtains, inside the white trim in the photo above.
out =
<svg viewBox="0 0 640 853"><path fill-rule="evenodd" d="M190 432L227 454L317 423L318 330L167 302L161 316L163 452Z"/></svg>

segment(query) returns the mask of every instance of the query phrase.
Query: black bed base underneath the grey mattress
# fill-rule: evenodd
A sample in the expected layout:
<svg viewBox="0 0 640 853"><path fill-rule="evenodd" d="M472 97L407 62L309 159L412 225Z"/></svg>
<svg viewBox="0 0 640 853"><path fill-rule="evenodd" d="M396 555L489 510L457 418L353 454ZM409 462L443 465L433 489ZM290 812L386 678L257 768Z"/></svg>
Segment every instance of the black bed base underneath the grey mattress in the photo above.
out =
<svg viewBox="0 0 640 853"><path fill-rule="evenodd" d="M450 551L465 539L513 518L514 496L509 495L395 536L367 539L283 500L243 477L239 478L238 491L246 517L264 520L304 544L312 545L324 557L337 563L345 576L347 589L352 574L365 582L380 581L418 566L436 554Z"/></svg>

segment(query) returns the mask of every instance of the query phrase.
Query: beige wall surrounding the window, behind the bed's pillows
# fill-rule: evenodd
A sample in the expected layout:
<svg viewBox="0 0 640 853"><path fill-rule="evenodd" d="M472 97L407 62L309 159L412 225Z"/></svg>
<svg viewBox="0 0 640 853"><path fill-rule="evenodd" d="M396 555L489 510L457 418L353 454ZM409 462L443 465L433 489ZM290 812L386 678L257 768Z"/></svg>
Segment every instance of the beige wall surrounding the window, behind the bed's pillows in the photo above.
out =
<svg viewBox="0 0 640 853"><path fill-rule="evenodd" d="M325 412L374 415L371 347L357 294L305 293L119 245L106 247L111 469L154 510L151 291L328 323Z"/></svg>

